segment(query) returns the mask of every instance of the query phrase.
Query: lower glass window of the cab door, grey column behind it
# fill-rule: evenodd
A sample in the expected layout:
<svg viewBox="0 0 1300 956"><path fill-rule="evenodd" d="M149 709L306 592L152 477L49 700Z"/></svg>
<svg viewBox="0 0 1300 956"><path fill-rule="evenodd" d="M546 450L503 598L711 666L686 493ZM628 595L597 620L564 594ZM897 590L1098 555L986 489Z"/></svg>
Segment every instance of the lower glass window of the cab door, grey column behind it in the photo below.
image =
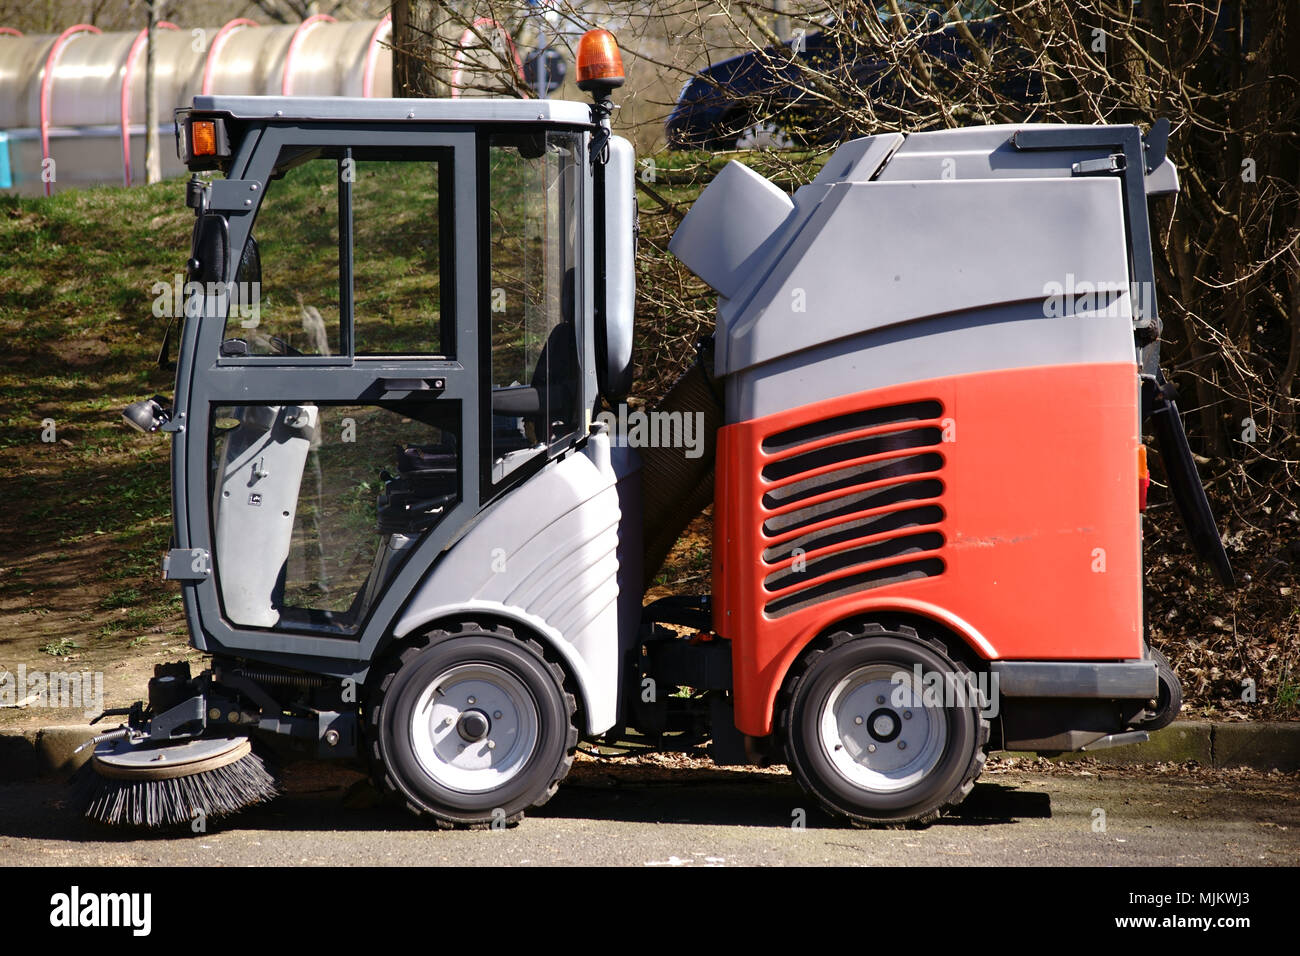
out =
<svg viewBox="0 0 1300 956"><path fill-rule="evenodd" d="M243 627L352 632L460 499L458 402L218 406L214 567Z"/></svg>

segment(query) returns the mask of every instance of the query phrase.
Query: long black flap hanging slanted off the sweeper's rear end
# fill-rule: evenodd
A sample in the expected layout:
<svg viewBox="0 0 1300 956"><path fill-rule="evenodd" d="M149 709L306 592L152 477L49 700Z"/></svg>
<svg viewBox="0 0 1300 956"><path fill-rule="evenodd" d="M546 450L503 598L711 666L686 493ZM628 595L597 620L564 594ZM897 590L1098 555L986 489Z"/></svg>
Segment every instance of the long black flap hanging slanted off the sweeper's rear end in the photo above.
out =
<svg viewBox="0 0 1300 956"><path fill-rule="evenodd" d="M1154 375L1143 376L1143 410L1156 433L1160 458L1183 527L1192 538L1192 548L1214 570L1219 583L1225 588L1235 588L1232 566L1219 540L1218 525L1214 523L1209 498L1205 497L1201 476L1196 471L1196 459L1187 444L1187 432L1174 394L1174 386L1158 368Z"/></svg>

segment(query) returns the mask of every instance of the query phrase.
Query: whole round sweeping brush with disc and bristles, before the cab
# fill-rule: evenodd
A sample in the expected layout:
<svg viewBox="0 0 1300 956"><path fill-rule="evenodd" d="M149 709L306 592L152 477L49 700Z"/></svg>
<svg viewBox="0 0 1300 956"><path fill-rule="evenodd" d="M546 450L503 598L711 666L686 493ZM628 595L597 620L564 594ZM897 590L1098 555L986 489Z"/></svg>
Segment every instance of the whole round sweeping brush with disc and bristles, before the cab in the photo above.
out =
<svg viewBox="0 0 1300 956"><path fill-rule="evenodd" d="M225 817L280 792L248 737L164 745L105 740L73 787L73 801L91 819L144 827Z"/></svg>

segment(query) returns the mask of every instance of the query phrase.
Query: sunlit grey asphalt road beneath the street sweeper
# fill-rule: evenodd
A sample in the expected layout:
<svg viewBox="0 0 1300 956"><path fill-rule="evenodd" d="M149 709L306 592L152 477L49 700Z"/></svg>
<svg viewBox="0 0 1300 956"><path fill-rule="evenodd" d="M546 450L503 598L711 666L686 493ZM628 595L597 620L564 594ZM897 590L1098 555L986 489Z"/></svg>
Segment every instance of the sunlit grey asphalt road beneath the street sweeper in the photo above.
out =
<svg viewBox="0 0 1300 956"><path fill-rule="evenodd" d="M49 782L0 787L0 864L31 865L1248 865L1300 862L1300 779L1002 762L924 830L857 830L784 771L581 762L517 827L438 831L359 777L302 766L274 803L205 834L86 822ZM1098 813L1100 812L1100 813ZM1104 817L1101 816L1104 813ZM803 827L792 826L803 819ZM1102 829L1104 823L1104 829Z"/></svg>

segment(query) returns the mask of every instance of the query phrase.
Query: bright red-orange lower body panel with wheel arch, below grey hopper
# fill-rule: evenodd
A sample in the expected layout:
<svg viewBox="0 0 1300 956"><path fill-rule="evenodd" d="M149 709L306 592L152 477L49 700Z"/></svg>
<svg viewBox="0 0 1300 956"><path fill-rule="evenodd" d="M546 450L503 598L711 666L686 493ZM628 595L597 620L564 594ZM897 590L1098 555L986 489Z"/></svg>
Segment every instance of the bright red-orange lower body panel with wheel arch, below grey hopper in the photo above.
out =
<svg viewBox="0 0 1300 956"><path fill-rule="evenodd" d="M714 507L714 623L718 633L732 641L737 727L753 736L770 734L776 693L800 650L835 623L864 613L928 617L991 659L1141 657L1138 402L1134 364L1057 365L909 382L724 427L719 432ZM794 450L764 450L764 440L788 429L904 403L927 403L924 408L939 414L927 412L924 420L902 425L841 429ZM764 561L764 549L792 535L767 533L764 522L792 507L764 503L764 494L798 475L772 480L763 476L764 467L809 451L844 447L845 441L879 436L888 441L900 429L941 433L942 438L854 460L911 455L919 462L918 453L926 453L926 462L941 460L906 479L872 483L889 488L910 481L920 488L918 483L926 481L928 488L941 488L937 496L905 503L926 505L937 519L922 528L836 541L801 557L803 567L812 568L819 558L861 549L864 541L880 540L888 546L890 538L922 531L926 533L909 538L926 545L918 553L836 567L812 580L835 588L837 580L842 584L844 578L864 568L884 574L880 568L911 567L909 562L918 561L930 568L930 576L850 589L770 613L764 605L801 591L807 587L801 580L809 579L777 581L780 587L772 588L774 572L792 561L772 554ZM832 463L800 475L814 475L815 480L816 473L842 467ZM832 490L815 496L816 501L805 498L803 506L867 486ZM818 520L800 533L835 531L836 523L842 525L863 514L872 512Z"/></svg>

